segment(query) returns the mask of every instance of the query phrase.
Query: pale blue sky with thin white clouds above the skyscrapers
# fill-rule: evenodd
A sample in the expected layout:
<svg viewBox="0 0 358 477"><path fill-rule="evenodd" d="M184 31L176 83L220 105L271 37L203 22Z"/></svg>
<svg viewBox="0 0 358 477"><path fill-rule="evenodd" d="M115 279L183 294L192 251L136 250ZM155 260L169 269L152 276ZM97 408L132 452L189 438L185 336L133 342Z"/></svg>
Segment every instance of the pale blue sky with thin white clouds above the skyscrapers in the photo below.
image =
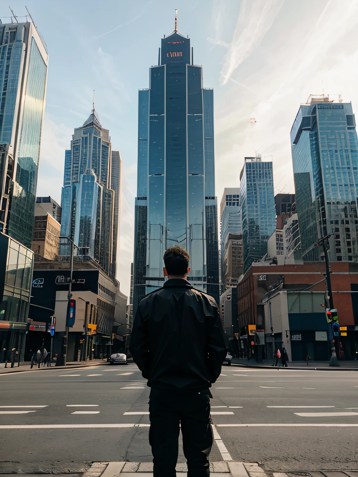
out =
<svg viewBox="0 0 358 477"><path fill-rule="evenodd" d="M309 94L342 94L358 111L358 1L11 0L25 4L49 52L37 195L61 200L64 150L96 111L124 165L118 278L129 294L137 181L137 91L163 34L189 34L214 88L216 195L239 185L244 156L273 160L275 191L294 192L289 132ZM7 5L0 18L10 21ZM337 96L336 96L337 97ZM251 124L250 119L256 123Z"/></svg>

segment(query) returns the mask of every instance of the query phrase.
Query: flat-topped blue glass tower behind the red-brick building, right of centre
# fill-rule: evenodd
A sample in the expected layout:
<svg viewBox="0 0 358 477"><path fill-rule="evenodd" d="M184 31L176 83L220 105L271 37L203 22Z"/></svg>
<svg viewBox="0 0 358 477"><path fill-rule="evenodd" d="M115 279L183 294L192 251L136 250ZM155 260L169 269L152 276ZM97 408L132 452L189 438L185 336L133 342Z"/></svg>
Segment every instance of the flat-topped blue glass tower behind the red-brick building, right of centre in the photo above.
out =
<svg viewBox="0 0 358 477"><path fill-rule="evenodd" d="M267 253L267 240L276 228L272 162L245 157L240 173L243 272Z"/></svg>

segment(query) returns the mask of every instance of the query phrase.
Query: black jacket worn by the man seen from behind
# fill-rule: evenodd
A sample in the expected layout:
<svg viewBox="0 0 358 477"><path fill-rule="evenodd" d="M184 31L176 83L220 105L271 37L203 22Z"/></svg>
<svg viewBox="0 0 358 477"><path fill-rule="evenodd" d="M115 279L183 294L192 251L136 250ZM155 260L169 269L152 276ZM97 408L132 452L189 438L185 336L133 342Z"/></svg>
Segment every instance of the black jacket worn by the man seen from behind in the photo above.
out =
<svg viewBox="0 0 358 477"><path fill-rule="evenodd" d="M209 388L227 353L216 301L187 280L166 281L140 301L129 349L148 386Z"/></svg>

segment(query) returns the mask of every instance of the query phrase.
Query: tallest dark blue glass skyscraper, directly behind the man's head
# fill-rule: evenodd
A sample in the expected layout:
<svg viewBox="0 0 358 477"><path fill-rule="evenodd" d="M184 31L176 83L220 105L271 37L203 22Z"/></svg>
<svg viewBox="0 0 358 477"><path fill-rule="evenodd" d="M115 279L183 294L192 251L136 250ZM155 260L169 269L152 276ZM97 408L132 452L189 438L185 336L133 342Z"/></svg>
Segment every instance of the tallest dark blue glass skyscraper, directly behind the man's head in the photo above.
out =
<svg viewBox="0 0 358 477"><path fill-rule="evenodd" d="M163 253L173 245L190 253L188 280L218 300L213 90L190 61L188 37L162 38L138 99L134 309L163 284Z"/></svg>

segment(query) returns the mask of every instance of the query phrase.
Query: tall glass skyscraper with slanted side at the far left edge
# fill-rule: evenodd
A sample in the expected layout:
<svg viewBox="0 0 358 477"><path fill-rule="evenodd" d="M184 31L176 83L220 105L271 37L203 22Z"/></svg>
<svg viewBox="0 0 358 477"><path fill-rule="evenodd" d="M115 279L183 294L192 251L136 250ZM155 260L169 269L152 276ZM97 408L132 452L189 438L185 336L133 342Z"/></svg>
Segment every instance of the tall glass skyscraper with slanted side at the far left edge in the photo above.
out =
<svg viewBox="0 0 358 477"><path fill-rule="evenodd" d="M0 24L0 232L31 247L48 54L32 22Z"/></svg>

